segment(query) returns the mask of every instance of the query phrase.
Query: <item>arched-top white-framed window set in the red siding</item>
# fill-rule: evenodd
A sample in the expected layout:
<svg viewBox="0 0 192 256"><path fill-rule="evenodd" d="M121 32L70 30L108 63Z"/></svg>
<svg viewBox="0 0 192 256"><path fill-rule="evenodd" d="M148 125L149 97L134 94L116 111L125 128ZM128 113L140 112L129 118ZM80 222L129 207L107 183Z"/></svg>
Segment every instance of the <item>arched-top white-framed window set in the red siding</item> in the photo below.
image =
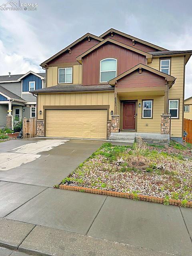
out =
<svg viewBox="0 0 192 256"><path fill-rule="evenodd" d="M108 82L117 76L117 60L108 58L100 61L100 82Z"/></svg>

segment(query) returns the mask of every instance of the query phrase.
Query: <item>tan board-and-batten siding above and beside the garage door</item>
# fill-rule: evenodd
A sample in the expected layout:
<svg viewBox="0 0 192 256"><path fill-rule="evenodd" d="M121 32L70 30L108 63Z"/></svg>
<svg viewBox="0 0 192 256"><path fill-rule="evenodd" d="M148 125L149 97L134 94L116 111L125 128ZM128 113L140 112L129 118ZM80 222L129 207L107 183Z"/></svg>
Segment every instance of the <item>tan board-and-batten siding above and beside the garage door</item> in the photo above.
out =
<svg viewBox="0 0 192 256"><path fill-rule="evenodd" d="M38 94L38 119L44 118L43 106L85 106L85 105L109 105L110 112L114 111L114 92L84 92L84 93L53 93ZM39 111L42 114L39 114Z"/></svg>

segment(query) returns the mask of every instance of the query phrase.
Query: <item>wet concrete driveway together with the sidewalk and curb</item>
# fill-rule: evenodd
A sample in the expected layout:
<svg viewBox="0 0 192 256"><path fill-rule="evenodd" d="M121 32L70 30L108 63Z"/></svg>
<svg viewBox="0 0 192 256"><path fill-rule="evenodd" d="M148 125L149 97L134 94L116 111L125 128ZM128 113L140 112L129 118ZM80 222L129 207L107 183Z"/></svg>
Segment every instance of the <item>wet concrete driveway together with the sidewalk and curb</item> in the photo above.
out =
<svg viewBox="0 0 192 256"><path fill-rule="evenodd" d="M48 256L192 255L192 209L52 188L102 143L0 144L0 246Z"/></svg>

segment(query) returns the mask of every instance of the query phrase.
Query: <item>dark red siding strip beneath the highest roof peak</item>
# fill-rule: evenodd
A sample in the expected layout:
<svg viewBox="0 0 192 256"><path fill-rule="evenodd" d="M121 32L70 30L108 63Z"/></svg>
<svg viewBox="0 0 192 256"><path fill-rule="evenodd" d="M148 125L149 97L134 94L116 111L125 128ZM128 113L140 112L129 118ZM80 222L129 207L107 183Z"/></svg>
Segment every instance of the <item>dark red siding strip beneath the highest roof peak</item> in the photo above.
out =
<svg viewBox="0 0 192 256"><path fill-rule="evenodd" d="M156 51L156 49L154 49L154 48L152 48L152 47L150 47L150 46L144 45L144 44L140 44L140 43L138 43L138 42L135 42L135 45L133 45L133 42L132 42L131 39L126 38L126 37L124 37L124 36L120 36L120 35L118 35L118 34L114 34L113 37L110 36L110 35L107 35L107 36L104 37L104 39L106 39L106 38L111 38L111 39L116 40L116 41L118 41L118 42L121 42L121 43L123 43L123 44L127 44L127 45L129 45L129 46L131 46L131 47L134 47L134 48L136 48L136 49L138 49L138 50L142 50L142 51L144 51L144 52L153 52L153 51Z"/></svg>

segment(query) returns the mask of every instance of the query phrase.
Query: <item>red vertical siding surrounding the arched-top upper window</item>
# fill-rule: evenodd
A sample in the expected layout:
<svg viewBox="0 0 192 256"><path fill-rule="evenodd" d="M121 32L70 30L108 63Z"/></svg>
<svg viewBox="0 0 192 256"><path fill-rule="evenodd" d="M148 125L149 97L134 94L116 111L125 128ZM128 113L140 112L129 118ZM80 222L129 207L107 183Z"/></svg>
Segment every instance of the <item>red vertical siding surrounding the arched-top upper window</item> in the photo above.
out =
<svg viewBox="0 0 192 256"><path fill-rule="evenodd" d="M146 57L114 44L105 44L83 59L83 84L100 84L100 60L117 59L117 76L139 63L146 64Z"/></svg>

